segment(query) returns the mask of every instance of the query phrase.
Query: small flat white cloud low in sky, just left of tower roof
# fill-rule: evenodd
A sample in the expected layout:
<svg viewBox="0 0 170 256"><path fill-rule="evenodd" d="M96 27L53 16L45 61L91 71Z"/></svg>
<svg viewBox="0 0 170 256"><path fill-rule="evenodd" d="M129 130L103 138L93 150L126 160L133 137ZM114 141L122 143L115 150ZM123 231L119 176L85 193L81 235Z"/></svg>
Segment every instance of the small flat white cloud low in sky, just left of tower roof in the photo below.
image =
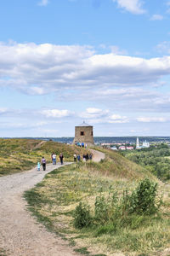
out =
<svg viewBox="0 0 170 256"><path fill-rule="evenodd" d="M40 113L47 118L64 118L72 114L67 109L44 109Z"/></svg>

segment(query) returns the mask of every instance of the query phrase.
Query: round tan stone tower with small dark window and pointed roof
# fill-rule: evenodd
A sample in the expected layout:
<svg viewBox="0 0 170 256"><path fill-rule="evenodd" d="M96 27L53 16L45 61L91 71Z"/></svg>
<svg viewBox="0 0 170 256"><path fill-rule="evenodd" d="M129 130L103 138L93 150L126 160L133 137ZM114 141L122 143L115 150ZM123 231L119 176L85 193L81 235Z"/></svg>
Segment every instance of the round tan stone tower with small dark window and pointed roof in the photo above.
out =
<svg viewBox="0 0 170 256"><path fill-rule="evenodd" d="M87 145L94 145L93 126L86 124L84 121L82 125L75 126L75 138L73 143L84 143Z"/></svg>

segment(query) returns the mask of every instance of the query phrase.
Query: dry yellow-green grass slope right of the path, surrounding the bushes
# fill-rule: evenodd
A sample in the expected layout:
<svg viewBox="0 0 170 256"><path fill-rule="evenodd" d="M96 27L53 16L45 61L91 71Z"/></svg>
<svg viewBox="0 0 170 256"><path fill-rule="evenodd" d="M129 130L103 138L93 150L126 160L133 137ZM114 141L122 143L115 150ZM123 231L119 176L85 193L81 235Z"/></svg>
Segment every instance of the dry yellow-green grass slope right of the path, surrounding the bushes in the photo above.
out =
<svg viewBox="0 0 170 256"><path fill-rule="evenodd" d="M132 212L129 215L125 211L123 218L115 216L116 222L111 218L106 218L105 221L111 199L121 201L123 191L127 191L130 196L145 177L154 183L157 180L149 171L122 155L111 150L102 151L105 152L106 159L100 163L81 163L79 166L73 164L48 173L42 183L26 192L31 211L48 229L65 236L72 245L76 245L77 252L90 255L168 255L169 187L159 185L160 190L165 189L160 212L152 212L150 215ZM153 185L153 188L156 187ZM79 208L79 211L87 217L88 225L77 229L74 226L77 214L75 210L80 203L82 209ZM100 221L95 219L91 222L96 205L99 210L97 212L106 212L106 215L100 214ZM109 214L114 216L110 210Z"/></svg>

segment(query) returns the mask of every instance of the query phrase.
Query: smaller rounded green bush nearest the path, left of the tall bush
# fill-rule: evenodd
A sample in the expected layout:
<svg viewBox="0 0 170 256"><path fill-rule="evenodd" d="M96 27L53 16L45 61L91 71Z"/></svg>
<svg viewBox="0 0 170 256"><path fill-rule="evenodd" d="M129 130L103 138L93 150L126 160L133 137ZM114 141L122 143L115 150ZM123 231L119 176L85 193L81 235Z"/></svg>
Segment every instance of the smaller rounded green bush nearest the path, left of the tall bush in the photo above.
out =
<svg viewBox="0 0 170 256"><path fill-rule="evenodd" d="M82 229L88 227L90 224L92 224L92 217L89 206L80 202L74 213L74 226L77 229Z"/></svg>

